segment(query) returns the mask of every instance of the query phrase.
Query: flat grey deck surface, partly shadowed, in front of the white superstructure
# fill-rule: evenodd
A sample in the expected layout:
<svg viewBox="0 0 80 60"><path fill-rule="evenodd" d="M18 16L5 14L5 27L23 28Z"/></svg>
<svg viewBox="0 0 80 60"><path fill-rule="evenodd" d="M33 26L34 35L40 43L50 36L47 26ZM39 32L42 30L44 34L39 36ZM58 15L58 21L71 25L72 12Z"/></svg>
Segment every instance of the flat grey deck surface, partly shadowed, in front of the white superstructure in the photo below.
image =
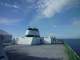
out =
<svg viewBox="0 0 80 60"><path fill-rule="evenodd" d="M63 44L13 45L5 48L9 60L68 60Z"/></svg>

